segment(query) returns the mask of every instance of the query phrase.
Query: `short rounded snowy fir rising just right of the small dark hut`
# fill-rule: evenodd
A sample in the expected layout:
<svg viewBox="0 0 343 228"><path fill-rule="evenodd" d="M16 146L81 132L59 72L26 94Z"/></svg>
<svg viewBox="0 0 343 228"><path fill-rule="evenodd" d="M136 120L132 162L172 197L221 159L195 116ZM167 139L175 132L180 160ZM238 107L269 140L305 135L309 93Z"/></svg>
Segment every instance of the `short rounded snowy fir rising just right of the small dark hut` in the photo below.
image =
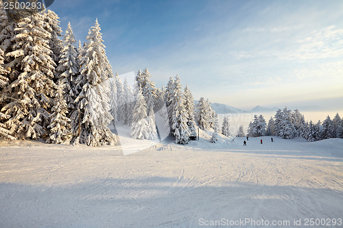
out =
<svg viewBox="0 0 343 228"><path fill-rule="evenodd" d="M209 101L201 97L196 105L196 123L200 129L206 131L211 127L212 114Z"/></svg>

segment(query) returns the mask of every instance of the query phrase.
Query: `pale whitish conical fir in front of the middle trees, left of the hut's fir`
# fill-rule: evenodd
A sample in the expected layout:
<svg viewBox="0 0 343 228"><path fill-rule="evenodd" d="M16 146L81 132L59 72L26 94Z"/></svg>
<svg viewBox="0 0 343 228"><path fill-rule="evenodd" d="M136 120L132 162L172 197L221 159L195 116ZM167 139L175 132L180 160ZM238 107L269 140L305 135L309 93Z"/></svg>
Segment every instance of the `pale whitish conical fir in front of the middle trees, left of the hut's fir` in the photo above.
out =
<svg viewBox="0 0 343 228"><path fill-rule="evenodd" d="M136 102L132 114L131 137L135 139L148 139L147 110L141 88L138 85L134 97Z"/></svg>

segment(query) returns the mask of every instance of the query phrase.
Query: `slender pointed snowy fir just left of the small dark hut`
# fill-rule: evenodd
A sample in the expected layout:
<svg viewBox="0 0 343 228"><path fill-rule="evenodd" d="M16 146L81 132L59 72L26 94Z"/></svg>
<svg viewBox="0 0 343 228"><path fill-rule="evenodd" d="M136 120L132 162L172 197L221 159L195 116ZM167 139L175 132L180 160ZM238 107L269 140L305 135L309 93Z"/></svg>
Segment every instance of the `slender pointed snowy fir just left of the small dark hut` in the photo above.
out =
<svg viewBox="0 0 343 228"><path fill-rule="evenodd" d="M171 129L174 131L176 137L175 142L179 144L187 144L191 131L187 125L189 116L185 108L185 94L183 93L180 84L180 77L176 75L174 81L174 92L171 95Z"/></svg>

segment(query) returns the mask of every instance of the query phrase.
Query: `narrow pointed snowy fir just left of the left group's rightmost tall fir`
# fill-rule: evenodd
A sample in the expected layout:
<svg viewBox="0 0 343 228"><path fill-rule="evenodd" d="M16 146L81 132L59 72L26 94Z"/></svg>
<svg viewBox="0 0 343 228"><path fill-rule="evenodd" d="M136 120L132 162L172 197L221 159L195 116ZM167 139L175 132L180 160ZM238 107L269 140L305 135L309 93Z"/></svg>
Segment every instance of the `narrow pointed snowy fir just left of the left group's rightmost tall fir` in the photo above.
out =
<svg viewBox="0 0 343 228"><path fill-rule="evenodd" d="M64 82L64 96L69 112L75 108L75 92L78 91L74 90L74 81L78 76L78 71L78 50L75 47L73 29L71 29L71 24L68 23L62 42L62 49L60 50L60 61L56 68L56 78Z"/></svg>

